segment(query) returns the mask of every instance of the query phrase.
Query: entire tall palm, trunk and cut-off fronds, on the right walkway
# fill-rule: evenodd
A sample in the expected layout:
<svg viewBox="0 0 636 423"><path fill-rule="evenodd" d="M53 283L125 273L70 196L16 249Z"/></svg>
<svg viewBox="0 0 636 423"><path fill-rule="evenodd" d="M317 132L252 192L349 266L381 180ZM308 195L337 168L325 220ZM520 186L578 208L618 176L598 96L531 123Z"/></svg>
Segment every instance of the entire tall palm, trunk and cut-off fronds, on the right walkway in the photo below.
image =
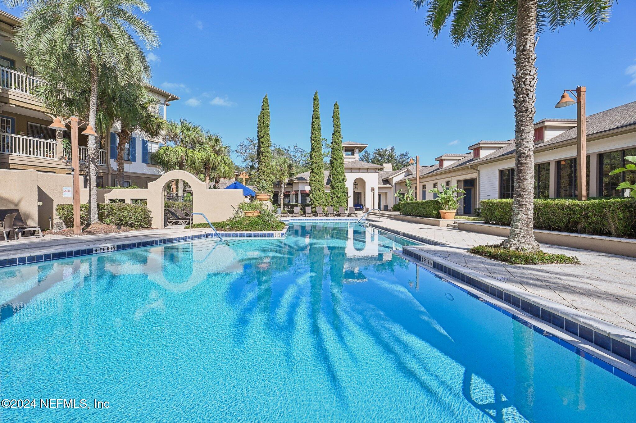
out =
<svg viewBox="0 0 636 423"><path fill-rule="evenodd" d="M450 18L455 46L469 41L480 55L504 41L515 48L515 196L510 235L502 247L534 251L534 113L537 85L536 34L583 18L590 29L607 22L614 0L411 0L427 8L426 24L439 36Z"/></svg>

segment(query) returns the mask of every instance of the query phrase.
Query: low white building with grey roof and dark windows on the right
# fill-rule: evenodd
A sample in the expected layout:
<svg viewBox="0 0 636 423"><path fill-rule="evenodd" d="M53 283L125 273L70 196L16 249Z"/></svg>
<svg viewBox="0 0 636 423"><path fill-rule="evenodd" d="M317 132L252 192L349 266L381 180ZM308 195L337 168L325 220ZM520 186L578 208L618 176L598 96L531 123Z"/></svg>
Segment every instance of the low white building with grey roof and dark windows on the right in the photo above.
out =
<svg viewBox="0 0 636 423"><path fill-rule="evenodd" d="M625 156L636 156L636 102L613 107L587 116L588 197L628 195L616 187L633 172L610 175L625 165ZM577 186L576 119L544 119L534 124L534 162L536 198L574 198ZM404 190L410 179L418 199L432 199L428 191L442 184L457 184L466 191L460 201L460 214L473 214L481 200L512 198L515 186L515 143L480 141L463 154L445 154L436 164L420 169L420 186L415 174L396 183Z"/></svg>

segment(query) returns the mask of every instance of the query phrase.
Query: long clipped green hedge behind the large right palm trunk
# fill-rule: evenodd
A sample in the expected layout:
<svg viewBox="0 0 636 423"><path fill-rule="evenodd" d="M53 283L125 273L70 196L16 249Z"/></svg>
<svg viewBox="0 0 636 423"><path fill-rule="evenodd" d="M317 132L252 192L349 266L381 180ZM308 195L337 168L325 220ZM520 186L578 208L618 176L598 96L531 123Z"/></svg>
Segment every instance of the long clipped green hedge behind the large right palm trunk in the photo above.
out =
<svg viewBox="0 0 636 423"><path fill-rule="evenodd" d="M483 200L480 205L481 217L486 223L510 225L513 200ZM636 237L636 199L534 200L534 227L560 232L633 238Z"/></svg>

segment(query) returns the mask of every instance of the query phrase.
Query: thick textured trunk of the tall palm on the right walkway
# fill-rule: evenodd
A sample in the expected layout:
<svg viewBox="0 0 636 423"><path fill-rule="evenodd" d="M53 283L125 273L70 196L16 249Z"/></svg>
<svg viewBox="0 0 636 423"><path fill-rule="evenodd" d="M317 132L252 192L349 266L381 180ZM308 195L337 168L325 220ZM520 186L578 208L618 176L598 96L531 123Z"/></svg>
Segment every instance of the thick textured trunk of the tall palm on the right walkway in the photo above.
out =
<svg viewBox="0 0 636 423"><path fill-rule="evenodd" d="M534 239L534 102L537 86L537 0L517 4L515 76L515 196L510 235L501 246L536 251Z"/></svg>

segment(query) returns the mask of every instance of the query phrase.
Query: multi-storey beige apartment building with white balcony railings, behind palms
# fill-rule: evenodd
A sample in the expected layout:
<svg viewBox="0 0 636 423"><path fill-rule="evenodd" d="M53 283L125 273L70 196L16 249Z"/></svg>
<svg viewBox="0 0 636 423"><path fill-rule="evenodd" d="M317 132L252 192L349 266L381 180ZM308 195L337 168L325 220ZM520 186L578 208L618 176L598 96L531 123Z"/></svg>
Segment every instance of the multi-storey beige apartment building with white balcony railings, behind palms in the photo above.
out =
<svg viewBox="0 0 636 423"><path fill-rule="evenodd" d="M55 116L46 111L32 95L35 87L44 81L34 75L11 41L20 18L0 11L0 169L35 169L38 172L70 173L69 160L62 148L62 139L70 139L70 130L62 131L62 137L48 127ZM147 85L148 92L157 97L160 106L156 113L167 117L170 102L179 100L176 95ZM70 125L69 125L70 128ZM82 132L84 126L80 127ZM116 144L119 128L111 130L109 139L102 140L99 149L98 186L116 184ZM79 135L80 173L85 174L88 138ZM162 140L141 133L133 134L124 155L123 185L135 184L146 188L162 174L153 163L151 153L159 148ZM86 181L86 178L84 178Z"/></svg>

